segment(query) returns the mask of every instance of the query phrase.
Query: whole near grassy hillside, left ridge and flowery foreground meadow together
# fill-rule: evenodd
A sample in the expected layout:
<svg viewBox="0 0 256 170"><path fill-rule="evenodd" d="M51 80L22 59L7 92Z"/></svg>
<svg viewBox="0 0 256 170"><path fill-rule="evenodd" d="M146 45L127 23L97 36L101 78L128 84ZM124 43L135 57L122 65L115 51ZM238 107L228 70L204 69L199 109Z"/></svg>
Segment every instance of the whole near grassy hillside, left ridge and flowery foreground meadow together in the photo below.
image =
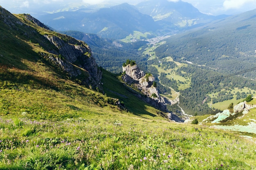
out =
<svg viewBox="0 0 256 170"><path fill-rule="evenodd" d="M162 117L116 75L89 69L84 42L1 7L0 18L0 170L256 168L252 141Z"/></svg>

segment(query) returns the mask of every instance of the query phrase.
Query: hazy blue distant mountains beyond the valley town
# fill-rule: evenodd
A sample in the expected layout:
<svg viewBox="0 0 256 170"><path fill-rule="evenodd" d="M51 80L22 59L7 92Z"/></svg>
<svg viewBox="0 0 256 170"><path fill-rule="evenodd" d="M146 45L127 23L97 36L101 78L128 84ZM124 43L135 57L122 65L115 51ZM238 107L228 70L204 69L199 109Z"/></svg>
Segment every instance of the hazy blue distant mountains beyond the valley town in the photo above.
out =
<svg viewBox="0 0 256 170"><path fill-rule="evenodd" d="M127 3L97 11L81 8L41 15L38 19L58 31L95 33L103 38L122 39L134 31L163 35L190 29L210 21L225 18L200 13L187 2L168 0L146 1L133 6Z"/></svg>

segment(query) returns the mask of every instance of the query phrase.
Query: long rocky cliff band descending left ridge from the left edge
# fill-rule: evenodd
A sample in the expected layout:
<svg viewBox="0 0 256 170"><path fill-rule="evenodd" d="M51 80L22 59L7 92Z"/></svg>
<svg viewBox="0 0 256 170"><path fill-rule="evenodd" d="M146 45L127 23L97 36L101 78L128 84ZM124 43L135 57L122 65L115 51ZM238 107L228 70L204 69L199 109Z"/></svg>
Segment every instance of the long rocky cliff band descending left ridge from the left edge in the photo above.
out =
<svg viewBox="0 0 256 170"><path fill-rule="evenodd" d="M36 53L49 60L71 79L101 89L101 70L85 42L51 31L29 14L13 15L0 7L1 27L10 30L18 40L29 44ZM17 36L18 35L18 36ZM17 42L18 43L18 42Z"/></svg>

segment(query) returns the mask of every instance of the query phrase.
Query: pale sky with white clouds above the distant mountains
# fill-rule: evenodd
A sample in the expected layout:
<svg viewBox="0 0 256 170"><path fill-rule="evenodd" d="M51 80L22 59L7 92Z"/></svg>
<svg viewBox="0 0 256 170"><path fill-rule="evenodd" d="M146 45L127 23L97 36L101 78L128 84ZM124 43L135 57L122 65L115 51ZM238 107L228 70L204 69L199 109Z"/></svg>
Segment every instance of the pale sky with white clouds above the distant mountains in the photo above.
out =
<svg viewBox="0 0 256 170"><path fill-rule="evenodd" d="M102 4L112 3L137 4L144 0L0 0L0 6L11 13L39 13L41 11L56 11L65 8L67 4ZM177 2L179 0L169 0ZM236 14L256 9L256 0L182 0L189 2L200 12L210 15Z"/></svg>

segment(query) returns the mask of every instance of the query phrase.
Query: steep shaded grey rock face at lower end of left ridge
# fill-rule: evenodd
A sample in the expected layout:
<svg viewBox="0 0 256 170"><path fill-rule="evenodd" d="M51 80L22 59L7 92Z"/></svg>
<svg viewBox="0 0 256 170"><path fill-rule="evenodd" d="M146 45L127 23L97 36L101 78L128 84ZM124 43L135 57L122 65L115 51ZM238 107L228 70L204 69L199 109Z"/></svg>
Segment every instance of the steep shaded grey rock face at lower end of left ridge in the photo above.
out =
<svg viewBox="0 0 256 170"><path fill-rule="evenodd" d="M45 35L45 38L58 49L49 51L55 54L49 57L54 64L73 78L84 75L80 77L84 84L94 88L100 87L102 72L91 56L91 50L87 44L70 37L68 40L62 40L54 35Z"/></svg>

